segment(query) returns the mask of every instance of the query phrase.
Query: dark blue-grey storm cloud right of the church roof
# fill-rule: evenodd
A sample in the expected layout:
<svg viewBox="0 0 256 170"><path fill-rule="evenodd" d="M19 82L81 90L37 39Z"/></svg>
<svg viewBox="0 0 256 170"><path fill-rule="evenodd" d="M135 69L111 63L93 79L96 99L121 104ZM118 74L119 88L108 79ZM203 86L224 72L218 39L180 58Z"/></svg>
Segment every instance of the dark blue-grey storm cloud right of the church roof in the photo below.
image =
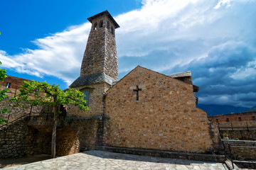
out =
<svg viewBox="0 0 256 170"><path fill-rule="evenodd" d="M201 87L201 103L255 106L255 49L243 42L227 42L184 66L182 69L192 71L194 84Z"/></svg>

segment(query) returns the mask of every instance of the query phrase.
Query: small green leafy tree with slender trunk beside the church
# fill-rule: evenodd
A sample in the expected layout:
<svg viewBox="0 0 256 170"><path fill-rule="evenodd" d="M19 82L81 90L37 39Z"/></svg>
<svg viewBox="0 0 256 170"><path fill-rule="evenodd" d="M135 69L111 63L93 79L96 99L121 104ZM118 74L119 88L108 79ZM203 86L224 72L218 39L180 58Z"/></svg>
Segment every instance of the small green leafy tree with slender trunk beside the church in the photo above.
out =
<svg viewBox="0 0 256 170"><path fill-rule="evenodd" d="M47 84L46 82L24 81L19 89L20 93L17 97L11 98L10 101L15 102L15 106L53 106L53 130L51 141L51 157L55 158L56 146L56 128L58 123L58 113L60 106L72 104L80 109L87 111L85 94L75 89L63 91L58 85Z"/></svg>

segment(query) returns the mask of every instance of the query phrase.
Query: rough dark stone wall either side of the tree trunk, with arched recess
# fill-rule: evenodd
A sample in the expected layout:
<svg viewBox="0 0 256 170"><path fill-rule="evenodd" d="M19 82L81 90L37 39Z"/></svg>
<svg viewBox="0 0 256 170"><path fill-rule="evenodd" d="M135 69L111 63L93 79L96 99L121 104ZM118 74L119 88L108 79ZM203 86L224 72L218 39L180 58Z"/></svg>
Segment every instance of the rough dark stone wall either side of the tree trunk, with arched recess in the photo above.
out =
<svg viewBox="0 0 256 170"><path fill-rule="evenodd" d="M26 116L11 125L1 127L0 158L50 154L52 127L36 125L38 123L28 126L31 121L28 118ZM65 125L57 127L56 155L75 154L80 152L82 147L95 149L99 129L98 121L101 122L97 118L67 118Z"/></svg>

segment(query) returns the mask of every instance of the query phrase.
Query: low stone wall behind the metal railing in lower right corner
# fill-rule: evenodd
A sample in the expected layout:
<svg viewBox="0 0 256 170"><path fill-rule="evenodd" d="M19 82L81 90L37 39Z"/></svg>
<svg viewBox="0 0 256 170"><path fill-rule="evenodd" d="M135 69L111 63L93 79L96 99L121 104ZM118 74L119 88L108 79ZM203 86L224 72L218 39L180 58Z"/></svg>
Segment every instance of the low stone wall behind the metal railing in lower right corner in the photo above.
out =
<svg viewBox="0 0 256 170"><path fill-rule="evenodd" d="M241 160L241 161L256 160L256 141L225 140L223 142L225 144L225 152L228 154L229 154L228 144L230 145L231 155L233 159ZM255 148L252 148L252 147L255 147Z"/></svg>

